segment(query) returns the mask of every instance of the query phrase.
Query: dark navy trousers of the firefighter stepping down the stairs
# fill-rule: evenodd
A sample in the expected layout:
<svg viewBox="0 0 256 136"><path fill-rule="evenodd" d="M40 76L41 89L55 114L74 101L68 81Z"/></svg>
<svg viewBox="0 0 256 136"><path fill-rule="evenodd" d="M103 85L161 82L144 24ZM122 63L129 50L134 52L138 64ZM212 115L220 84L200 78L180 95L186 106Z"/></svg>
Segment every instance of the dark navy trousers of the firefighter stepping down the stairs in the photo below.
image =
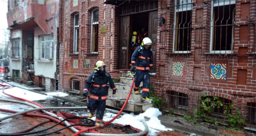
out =
<svg viewBox="0 0 256 136"><path fill-rule="evenodd" d="M139 89L139 84L143 83L142 88L142 97L149 96L149 71L148 70L136 70L135 78L134 78L134 89Z"/></svg>

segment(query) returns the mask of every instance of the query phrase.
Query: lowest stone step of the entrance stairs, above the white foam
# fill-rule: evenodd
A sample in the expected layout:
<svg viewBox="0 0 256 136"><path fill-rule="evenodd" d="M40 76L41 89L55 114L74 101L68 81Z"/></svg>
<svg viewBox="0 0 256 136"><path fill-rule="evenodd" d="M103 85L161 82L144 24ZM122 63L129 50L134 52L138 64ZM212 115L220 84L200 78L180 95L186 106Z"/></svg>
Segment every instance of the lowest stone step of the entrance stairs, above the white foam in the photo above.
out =
<svg viewBox="0 0 256 136"><path fill-rule="evenodd" d="M106 101L106 105L117 109L122 109L125 103L125 99L113 99L109 97ZM124 110L134 112L135 114L143 113L148 108L152 107L153 104L146 102L128 102Z"/></svg>

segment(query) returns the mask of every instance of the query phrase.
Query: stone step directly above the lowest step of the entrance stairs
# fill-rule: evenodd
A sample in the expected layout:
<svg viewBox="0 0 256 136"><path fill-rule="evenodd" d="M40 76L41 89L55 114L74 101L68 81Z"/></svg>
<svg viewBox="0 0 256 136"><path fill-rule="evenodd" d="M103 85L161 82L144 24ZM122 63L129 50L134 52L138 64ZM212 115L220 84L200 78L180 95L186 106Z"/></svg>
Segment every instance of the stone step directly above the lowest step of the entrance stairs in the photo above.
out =
<svg viewBox="0 0 256 136"><path fill-rule="evenodd" d="M108 96L110 97L114 97L114 98L120 98L120 99L126 99L128 97L129 91L127 90L117 90L116 94L112 94L113 90L109 89L108 90ZM129 97L129 100L133 100L136 102L140 102L141 101L141 94L134 94L134 92L132 92L132 94Z"/></svg>

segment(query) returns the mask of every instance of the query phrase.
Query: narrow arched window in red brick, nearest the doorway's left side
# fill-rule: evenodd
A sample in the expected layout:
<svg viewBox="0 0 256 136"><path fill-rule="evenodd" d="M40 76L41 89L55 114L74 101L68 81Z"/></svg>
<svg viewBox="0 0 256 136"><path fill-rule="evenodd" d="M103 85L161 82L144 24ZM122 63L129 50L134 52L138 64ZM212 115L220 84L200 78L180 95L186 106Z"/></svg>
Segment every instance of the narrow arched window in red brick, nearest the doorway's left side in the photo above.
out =
<svg viewBox="0 0 256 136"><path fill-rule="evenodd" d="M98 10L98 20L94 20L94 12ZM94 31L96 31L94 35ZM96 37L95 37L96 36ZM99 9L91 11L91 53L98 53L98 38L99 38Z"/></svg>

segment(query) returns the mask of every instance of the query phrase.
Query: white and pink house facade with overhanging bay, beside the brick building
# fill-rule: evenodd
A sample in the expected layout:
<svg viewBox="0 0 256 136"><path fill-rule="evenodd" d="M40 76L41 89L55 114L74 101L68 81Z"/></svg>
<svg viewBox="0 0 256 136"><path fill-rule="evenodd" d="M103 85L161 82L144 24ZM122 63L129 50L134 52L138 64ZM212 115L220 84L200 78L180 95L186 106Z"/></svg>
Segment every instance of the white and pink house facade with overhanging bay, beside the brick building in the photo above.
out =
<svg viewBox="0 0 256 136"><path fill-rule="evenodd" d="M59 0L8 0L12 80L58 90Z"/></svg>

